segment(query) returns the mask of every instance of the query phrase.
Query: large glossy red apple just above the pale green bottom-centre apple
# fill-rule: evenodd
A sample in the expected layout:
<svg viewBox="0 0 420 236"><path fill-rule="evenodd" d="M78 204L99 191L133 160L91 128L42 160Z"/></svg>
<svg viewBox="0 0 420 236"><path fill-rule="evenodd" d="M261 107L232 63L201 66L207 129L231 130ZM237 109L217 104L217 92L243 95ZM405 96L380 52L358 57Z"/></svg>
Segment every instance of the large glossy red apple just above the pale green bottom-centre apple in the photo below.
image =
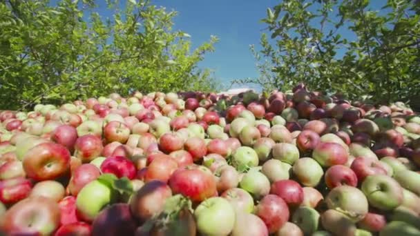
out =
<svg viewBox="0 0 420 236"><path fill-rule="evenodd" d="M216 181L204 166L178 168L169 178L169 186L174 194L180 193L195 202L204 201L217 193Z"/></svg>

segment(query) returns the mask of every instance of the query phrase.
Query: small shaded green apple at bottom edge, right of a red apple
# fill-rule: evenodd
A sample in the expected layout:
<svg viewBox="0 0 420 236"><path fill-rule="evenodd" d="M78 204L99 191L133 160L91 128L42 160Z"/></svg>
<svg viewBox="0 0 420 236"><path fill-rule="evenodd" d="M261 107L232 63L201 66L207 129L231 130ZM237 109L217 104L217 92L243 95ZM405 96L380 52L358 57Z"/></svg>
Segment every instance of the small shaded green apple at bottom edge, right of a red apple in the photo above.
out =
<svg viewBox="0 0 420 236"><path fill-rule="evenodd" d="M312 235L318 229L320 215L314 208L300 206L292 215L292 222L299 226L305 235Z"/></svg>

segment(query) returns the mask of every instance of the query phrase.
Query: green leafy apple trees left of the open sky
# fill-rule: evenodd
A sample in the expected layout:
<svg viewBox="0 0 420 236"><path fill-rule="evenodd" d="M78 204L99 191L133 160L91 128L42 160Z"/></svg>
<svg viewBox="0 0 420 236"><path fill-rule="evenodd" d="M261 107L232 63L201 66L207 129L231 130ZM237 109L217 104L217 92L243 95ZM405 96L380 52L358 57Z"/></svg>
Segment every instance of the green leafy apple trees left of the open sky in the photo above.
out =
<svg viewBox="0 0 420 236"><path fill-rule="evenodd" d="M1 1L0 109L133 90L214 90L197 63L218 39L191 50L189 35L172 29L177 12L137 1L108 0L110 19L93 0Z"/></svg>

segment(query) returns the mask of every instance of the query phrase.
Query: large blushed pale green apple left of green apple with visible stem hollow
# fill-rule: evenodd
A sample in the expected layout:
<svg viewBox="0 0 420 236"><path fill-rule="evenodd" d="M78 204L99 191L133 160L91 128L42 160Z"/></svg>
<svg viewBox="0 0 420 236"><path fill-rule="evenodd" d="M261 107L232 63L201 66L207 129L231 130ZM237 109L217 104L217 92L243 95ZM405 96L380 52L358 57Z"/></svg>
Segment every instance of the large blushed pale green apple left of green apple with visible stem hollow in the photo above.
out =
<svg viewBox="0 0 420 236"><path fill-rule="evenodd" d="M328 208L338 210L352 219L359 222L367 214L369 204L365 195L359 188L352 186L338 186L333 188L325 198Z"/></svg>

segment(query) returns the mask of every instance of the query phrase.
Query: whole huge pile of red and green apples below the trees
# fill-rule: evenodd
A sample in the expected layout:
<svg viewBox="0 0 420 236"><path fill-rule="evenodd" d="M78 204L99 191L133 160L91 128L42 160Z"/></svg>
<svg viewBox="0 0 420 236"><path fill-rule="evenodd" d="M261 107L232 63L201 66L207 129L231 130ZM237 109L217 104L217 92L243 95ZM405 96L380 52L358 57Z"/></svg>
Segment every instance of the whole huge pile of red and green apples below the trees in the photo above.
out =
<svg viewBox="0 0 420 236"><path fill-rule="evenodd" d="M311 92L0 111L6 235L420 235L420 116Z"/></svg>

